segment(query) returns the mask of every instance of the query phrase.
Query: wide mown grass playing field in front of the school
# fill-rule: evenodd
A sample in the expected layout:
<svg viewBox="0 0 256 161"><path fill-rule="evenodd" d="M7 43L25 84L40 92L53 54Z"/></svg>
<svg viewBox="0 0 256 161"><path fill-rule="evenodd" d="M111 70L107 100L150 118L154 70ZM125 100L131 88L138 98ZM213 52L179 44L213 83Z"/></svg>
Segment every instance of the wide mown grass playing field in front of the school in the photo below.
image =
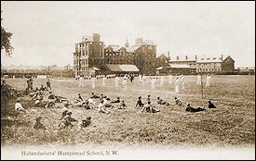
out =
<svg viewBox="0 0 256 161"><path fill-rule="evenodd" d="M90 81L85 81L85 87L79 88L74 79L51 79L52 92L74 101L77 93L88 98L91 92L107 95L112 100L120 96L125 100L126 109L111 109L110 114L100 114L98 110L74 107L73 117L78 120L92 118L92 124L85 130L64 130L54 132L60 123L61 108L39 108L28 105L28 96L22 98L24 106L37 112L19 115L13 126L3 126L1 130L2 146L34 145L34 144L162 144L162 145L216 145L216 146L247 146L255 144L255 76L212 76L210 87L204 86L203 99L201 86L196 85L196 76L185 76L185 89L181 93L174 92L174 79L165 87L160 87L156 81L155 91L151 90L151 81L147 79L144 86L135 78L128 81L128 90L124 92L121 83L115 87L115 81L107 80L106 87L101 87L101 81L96 81L96 89L91 89ZM16 89L24 90L25 79L7 79L7 84ZM203 77L205 84L206 76ZM44 84L46 80L34 79L34 88ZM46 92L47 94L47 92ZM151 95L153 103L156 97L174 104L177 96L183 104L197 107L208 105L212 100L216 109L208 109L199 113L186 113L185 107L176 105L158 105L159 113L140 113L136 108L139 96L146 102ZM99 102L99 101L98 101ZM14 108L14 103L10 104ZM49 133L34 130L33 124L37 116L42 116L42 123ZM80 123L80 122L79 122ZM78 124L79 124L78 123ZM77 126L78 126L77 124Z"/></svg>

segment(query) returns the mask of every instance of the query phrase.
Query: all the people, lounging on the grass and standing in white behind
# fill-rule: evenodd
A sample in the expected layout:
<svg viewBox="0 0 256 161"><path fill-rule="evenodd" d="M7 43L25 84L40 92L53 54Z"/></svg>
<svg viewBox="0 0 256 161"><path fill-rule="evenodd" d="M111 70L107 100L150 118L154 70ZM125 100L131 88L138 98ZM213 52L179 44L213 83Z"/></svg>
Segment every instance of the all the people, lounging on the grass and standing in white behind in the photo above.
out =
<svg viewBox="0 0 256 161"><path fill-rule="evenodd" d="M82 77L80 77L82 78ZM79 86L83 86L83 83L81 79L79 78ZM104 76L98 77L98 79L102 79L102 86L105 85L104 82ZM84 78L83 78L84 79ZM133 81L132 75L125 75L123 80L123 85L126 86L127 81L130 80L130 82ZM168 82L171 83L172 76L168 77ZM201 78L200 78L201 79ZM199 76L197 77L197 85L201 84L201 80L199 79ZM155 78L152 78L152 90L155 90ZM182 89L184 89L185 81L184 76L177 77L177 80L175 82L175 93L179 93L179 86L180 83L182 84ZM207 79L207 85L209 86L210 76L208 76ZM115 77L115 86L118 86L119 78ZM145 81L145 78L143 75L139 75L139 81L143 82ZM164 78L160 77L160 86L163 85ZM121 100L120 97L116 97L116 99L111 100L107 95L104 95L101 93L101 95L96 93L91 93L91 95L88 98L83 98L80 93L77 94L77 98L74 102L71 102L65 97L62 97L57 94L53 94L51 92L51 85L49 79L47 79L47 86L44 87L44 85L41 85L40 88L36 87L35 90L33 90L33 79L29 78L27 80L27 88L26 92L30 95L31 101L33 106L35 107L43 107L43 108L50 108L56 106L56 104L61 103L63 105L63 109L61 112L61 118L60 118L60 124L58 125L58 130L64 130L66 128L73 128L74 124L73 122L78 122L77 119L72 118L72 110L70 106L72 107L82 107L84 109L98 109L99 113L101 114L109 114L113 108L116 109L126 109L128 106L125 104L125 100ZM48 93L46 95L46 93ZM190 104L186 104L183 106L182 101L178 99L176 96L174 97L174 104L169 103L168 101L164 101L159 96L156 98L155 104L151 100L151 96L147 95L146 102L142 103L142 97L138 97L137 104L134 106L135 108L141 108L139 112L146 112L146 113L157 113L160 112L159 108L161 105L177 105L181 107L185 107L186 112L200 112L205 111L206 108L203 106L199 107L192 107ZM58 105L57 105L58 106ZM209 101L209 108L216 108L216 105L213 105L211 101ZM15 110L19 111L20 113L29 113L28 109L25 109L21 103L20 98L17 99L17 103L15 104ZM37 117L35 119L34 129L39 130L47 130L47 128L40 122L42 117ZM88 117L86 119L81 120L80 128L86 128L91 123L91 117Z"/></svg>

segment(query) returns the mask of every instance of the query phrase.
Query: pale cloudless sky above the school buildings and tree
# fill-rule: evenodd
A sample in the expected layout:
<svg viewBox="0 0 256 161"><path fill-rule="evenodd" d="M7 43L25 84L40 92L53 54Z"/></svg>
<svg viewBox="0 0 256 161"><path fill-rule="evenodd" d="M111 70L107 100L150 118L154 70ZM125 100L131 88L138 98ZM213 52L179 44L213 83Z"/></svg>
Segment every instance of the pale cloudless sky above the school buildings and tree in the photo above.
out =
<svg viewBox="0 0 256 161"><path fill-rule="evenodd" d="M232 56L255 67L255 2L1 1L13 55L2 66L73 66L74 44L100 33L106 45L142 37L156 56Z"/></svg>

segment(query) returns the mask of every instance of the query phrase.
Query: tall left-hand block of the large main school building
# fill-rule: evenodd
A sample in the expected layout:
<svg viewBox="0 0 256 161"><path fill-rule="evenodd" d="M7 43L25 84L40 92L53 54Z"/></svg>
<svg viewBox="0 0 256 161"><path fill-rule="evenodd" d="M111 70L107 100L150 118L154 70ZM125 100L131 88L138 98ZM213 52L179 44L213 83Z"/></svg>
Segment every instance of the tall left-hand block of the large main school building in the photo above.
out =
<svg viewBox="0 0 256 161"><path fill-rule="evenodd" d="M93 68L104 68L104 43L101 35L85 36L82 42L75 43L74 73L75 75L89 75Z"/></svg>

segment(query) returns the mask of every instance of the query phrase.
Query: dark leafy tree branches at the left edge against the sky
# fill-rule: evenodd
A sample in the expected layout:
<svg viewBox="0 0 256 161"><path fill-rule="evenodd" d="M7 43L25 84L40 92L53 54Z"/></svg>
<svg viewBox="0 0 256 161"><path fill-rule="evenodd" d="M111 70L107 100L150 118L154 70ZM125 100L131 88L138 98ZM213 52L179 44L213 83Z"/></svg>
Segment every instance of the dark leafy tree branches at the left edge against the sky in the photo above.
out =
<svg viewBox="0 0 256 161"><path fill-rule="evenodd" d="M3 19L1 18L1 51L5 50L7 56L10 56L13 50L13 47L10 44L12 33L5 30L5 28L2 26L2 20Z"/></svg>

